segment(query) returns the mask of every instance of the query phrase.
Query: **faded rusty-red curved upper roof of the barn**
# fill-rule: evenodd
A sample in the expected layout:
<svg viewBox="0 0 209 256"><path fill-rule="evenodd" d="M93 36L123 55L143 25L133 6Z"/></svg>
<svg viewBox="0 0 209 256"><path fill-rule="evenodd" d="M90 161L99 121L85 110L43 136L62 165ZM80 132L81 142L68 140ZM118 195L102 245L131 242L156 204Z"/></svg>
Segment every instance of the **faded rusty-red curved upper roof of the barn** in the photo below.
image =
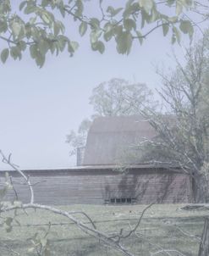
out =
<svg viewBox="0 0 209 256"><path fill-rule="evenodd" d="M140 164L131 157L135 146L154 136L148 120L139 115L97 118L88 133L83 165L124 164L122 159L126 164Z"/></svg>

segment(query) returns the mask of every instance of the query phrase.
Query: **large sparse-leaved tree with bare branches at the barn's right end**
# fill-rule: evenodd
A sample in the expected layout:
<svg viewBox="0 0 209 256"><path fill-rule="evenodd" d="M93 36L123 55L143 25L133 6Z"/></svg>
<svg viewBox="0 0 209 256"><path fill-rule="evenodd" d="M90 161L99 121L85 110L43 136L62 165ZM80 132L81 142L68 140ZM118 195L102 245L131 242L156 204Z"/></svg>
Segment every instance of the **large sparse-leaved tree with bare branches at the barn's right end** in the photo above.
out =
<svg viewBox="0 0 209 256"><path fill-rule="evenodd" d="M186 65L177 60L172 75L162 75L159 92L166 115L142 114L158 136L140 143L142 159L180 166L194 181L195 203L209 202L209 58L207 35L186 49Z"/></svg>

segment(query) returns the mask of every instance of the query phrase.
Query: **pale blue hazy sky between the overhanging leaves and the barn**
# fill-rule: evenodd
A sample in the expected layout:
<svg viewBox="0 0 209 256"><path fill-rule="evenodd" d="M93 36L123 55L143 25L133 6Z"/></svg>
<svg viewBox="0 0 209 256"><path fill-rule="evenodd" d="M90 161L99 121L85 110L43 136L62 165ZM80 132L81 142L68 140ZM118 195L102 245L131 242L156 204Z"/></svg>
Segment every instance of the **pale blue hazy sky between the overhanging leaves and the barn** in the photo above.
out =
<svg viewBox="0 0 209 256"><path fill-rule="evenodd" d="M179 46L175 51L181 55ZM21 61L0 64L0 148L13 153L22 169L56 169L74 165L66 135L91 115L88 97L102 81L113 77L160 86L155 64L173 67L170 38L156 31L129 56L116 53L114 44L101 55L91 51L88 39L73 58L48 56L42 69L27 53ZM5 169L5 164L0 164Z"/></svg>

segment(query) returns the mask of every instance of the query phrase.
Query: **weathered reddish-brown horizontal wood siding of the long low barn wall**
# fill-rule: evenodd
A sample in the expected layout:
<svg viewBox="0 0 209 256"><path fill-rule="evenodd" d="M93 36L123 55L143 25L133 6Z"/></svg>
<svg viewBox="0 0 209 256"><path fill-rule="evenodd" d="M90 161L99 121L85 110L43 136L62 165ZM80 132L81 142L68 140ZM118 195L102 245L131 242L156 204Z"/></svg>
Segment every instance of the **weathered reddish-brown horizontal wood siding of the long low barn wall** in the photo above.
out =
<svg viewBox="0 0 209 256"><path fill-rule="evenodd" d="M30 192L25 181L14 172L14 188L19 200L28 202ZM105 203L109 198L136 198L136 203L189 203L190 178L175 171L113 170L27 171L34 184L36 203ZM0 187L3 186L0 174ZM14 198L10 192L9 198Z"/></svg>

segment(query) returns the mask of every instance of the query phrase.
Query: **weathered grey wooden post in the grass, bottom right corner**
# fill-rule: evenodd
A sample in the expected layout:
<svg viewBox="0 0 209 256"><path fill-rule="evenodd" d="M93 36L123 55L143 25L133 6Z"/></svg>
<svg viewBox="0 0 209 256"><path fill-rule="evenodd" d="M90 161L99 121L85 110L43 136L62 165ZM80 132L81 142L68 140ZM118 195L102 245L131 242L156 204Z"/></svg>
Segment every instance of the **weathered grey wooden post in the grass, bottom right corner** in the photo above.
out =
<svg viewBox="0 0 209 256"><path fill-rule="evenodd" d="M198 256L209 256L209 218L206 218Z"/></svg>

